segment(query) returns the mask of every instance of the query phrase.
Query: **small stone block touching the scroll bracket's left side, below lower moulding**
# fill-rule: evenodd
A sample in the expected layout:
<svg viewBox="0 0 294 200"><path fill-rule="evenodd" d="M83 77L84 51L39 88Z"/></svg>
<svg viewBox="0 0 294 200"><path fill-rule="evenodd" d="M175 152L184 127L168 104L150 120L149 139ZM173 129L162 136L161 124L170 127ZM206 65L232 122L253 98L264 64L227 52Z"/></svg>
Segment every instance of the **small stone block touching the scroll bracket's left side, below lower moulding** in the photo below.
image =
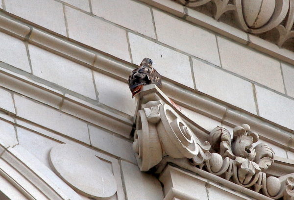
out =
<svg viewBox="0 0 294 200"><path fill-rule="evenodd" d="M136 163L131 142L92 125L89 125L89 132L93 147Z"/></svg>

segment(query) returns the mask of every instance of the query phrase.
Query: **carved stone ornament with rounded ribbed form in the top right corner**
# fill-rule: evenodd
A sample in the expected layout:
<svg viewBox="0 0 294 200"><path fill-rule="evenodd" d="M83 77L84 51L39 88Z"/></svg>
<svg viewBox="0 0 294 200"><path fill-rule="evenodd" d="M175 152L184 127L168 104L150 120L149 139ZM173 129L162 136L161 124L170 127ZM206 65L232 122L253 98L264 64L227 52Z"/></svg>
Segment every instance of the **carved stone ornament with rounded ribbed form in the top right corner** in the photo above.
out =
<svg viewBox="0 0 294 200"><path fill-rule="evenodd" d="M261 34L278 30L278 46L294 37L294 0L176 0L187 7L198 7L208 2L216 6L214 18L233 11L235 21L244 31Z"/></svg>

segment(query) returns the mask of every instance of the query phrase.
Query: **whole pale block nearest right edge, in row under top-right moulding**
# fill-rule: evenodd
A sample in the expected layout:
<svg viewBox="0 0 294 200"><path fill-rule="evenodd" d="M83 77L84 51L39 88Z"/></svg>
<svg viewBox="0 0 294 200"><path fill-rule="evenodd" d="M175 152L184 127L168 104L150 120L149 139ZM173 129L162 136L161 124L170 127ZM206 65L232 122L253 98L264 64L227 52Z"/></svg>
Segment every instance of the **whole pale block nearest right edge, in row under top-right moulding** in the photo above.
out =
<svg viewBox="0 0 294 200"><path fill-rule="evenodd" d="M217 38L224 69L284 93L278 60L222 37Z"/></svg>

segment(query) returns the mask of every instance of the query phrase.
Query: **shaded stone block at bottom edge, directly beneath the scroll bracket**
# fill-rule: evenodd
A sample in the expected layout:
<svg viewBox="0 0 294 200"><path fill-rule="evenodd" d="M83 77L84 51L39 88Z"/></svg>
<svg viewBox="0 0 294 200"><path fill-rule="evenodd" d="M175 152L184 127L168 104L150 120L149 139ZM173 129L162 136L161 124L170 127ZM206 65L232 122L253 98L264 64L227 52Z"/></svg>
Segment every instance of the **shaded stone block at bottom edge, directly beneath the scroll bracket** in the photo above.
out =
<svg viewBox="0 0 294 200"><path fill-rule="evenodd" d="M122 172L128 200L163 200L161 185L153 175L140 172L137 165L125 161Z"/></svg>

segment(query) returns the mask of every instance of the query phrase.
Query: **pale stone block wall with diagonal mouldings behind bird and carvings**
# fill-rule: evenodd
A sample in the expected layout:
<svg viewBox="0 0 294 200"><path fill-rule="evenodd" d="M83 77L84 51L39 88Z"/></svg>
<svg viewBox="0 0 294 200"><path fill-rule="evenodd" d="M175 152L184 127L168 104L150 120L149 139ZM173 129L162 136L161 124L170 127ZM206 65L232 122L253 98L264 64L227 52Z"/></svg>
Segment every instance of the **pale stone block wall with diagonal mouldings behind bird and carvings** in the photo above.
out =
<svg viewBox="0 0 294 200"><path fill-rule="evenodd" d="M293 162L292 51L172 0L2 0L0 8L0 139L71 200L88 198L51 173L49 151L61 143L94 150L107 164L118 185L113 200L163 199L132 150L137 100L127 77L145 57L193 121L211 131L246 119L263 127L261 141L277 159ZM202 26L209 20L217 31ZM0 191L28 197L2 176Z"/></svg>

